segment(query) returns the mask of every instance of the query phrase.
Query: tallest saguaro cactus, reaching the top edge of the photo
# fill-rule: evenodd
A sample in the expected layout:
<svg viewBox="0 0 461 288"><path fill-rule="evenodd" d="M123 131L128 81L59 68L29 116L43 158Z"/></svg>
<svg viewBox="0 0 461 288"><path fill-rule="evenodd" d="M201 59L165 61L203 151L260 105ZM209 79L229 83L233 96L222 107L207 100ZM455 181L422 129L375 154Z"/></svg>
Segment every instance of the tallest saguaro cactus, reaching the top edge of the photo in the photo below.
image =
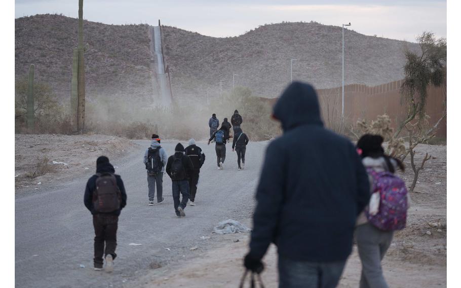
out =
<svg viewBox="0 0 461 288"><path fill-rule="evenodd" d="M79 0L79 69L78 69L78 129L85 128L85 60L83 45L83 0Z"/></svg>

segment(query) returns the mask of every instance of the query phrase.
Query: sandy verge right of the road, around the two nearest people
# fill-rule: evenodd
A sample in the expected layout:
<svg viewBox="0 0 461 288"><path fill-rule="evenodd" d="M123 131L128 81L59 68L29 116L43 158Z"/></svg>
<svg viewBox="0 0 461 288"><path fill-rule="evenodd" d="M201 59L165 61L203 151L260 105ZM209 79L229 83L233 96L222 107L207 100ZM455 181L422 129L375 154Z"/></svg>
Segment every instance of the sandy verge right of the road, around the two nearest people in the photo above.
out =
<svg viewBox="0 0 461 288"><path fill-rule="evenodd" d="M426 152L434 159L420 171L415 192L411 194L407 228L395 234L382 261L390 287L446 286L446 146L418 146L416 163L420 163ZM413 179L409 158L405 164L408 170L401 176L409 186ZM242 259L247 253L248 240L249 234L222 236L221 247L193 260L155 269L130 287L237 287L244 272ZM264 284L277 287L274 245L263 261L266 265L262 274ZM357 287L360 271L361 263L354 247L339 287Z"/></svg>

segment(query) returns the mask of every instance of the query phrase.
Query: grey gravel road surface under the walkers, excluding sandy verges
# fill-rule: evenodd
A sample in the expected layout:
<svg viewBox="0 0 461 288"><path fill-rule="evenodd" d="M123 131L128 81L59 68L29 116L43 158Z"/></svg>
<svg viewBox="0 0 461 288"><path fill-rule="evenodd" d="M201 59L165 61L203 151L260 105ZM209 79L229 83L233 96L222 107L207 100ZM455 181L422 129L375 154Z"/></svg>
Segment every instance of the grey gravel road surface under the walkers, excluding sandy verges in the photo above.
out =
<svg viewBox="0 0 461 288"><path fill-rule="evenodd" d="M93 271L93 226L83 204L87 175L39 194L17 194L15 200L15 280L17 287L124 287L151 269L180 265L225 240L210 234L220 221L246 225L254 207L254 190L266 142L250 142L245 170L227 145L224 170L217 170L214 145L198 142L206 154L197 193L197 206L175 217L171 181L164 176L164 204L147 206L147 181L141 162L150 141L121 158L111 159L124 180L127 207L119 219L118 258L112 274ZM177 141L162 146L170 156ZM182 142L184 146L186 143ZM96 160L96 159L95 159ZM201 239L201 236L210 237ZM139 243L141 246L130 246ZM198 247L190 250L191 247ZM169 248L169 249L166 249ZM84 265L85 268L82 268Z"/></svg>

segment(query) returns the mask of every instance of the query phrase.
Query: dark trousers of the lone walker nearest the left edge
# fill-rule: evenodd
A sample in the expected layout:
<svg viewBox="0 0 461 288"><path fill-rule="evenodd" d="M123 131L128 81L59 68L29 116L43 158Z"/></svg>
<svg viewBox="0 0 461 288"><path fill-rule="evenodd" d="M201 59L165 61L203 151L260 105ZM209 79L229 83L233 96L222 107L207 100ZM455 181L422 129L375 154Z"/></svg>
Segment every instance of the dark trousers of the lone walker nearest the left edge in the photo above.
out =
<svg viewBox="0 0 461 288"><path fill-rule="evenodd" d="M94 226L94 266L102 268L103 256L112 255L116 259L117 254L117 228L119 226L119 217L112 214L93 215ZM105 249L104 249L105 242Z"/></svg>

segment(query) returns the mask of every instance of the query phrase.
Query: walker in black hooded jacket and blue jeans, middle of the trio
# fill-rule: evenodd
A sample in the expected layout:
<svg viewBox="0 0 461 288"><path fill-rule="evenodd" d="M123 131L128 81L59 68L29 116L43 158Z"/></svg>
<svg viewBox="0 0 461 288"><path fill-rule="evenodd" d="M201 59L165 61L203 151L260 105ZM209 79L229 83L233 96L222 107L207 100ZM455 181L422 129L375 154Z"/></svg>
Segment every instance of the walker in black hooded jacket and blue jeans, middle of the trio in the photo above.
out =
<svg viewBox="0 0 461 288"><path fill-rule="evenodd" d="M168 158L167 174L171 178L171 187L173 190L174 210L177 217L184 217L184 208L189 200L189 182L190 175L194 173L194 164L189 157L184 155L184 146L181 143L176 145L174 155ZM182 200L180 200L182 194Z"/></svg>

